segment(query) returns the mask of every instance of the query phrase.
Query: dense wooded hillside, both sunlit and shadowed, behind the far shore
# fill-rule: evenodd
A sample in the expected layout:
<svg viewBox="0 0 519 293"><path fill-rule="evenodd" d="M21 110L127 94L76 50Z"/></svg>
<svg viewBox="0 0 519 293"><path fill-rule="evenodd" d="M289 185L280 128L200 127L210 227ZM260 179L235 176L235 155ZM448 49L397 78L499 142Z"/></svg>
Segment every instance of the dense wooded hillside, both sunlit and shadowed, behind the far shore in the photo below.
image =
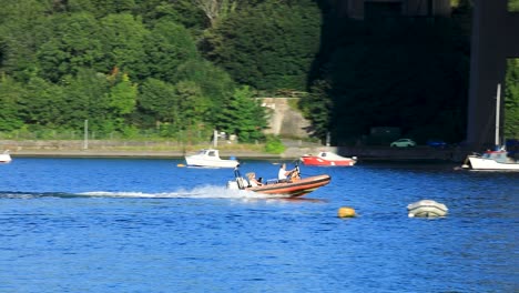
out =
<svg viewBox="0 0 519 293"><path fill-rule="evenodd" d="M318 139L375 127L465 139L470 1L450 18L347 19L332 0L0 0L0 133L263 141L262 97L301 97ZM506 132L519 137L519 62ZM511 122L510 122L511 121ZM146 134L146 135L147 135Z"/></svg>

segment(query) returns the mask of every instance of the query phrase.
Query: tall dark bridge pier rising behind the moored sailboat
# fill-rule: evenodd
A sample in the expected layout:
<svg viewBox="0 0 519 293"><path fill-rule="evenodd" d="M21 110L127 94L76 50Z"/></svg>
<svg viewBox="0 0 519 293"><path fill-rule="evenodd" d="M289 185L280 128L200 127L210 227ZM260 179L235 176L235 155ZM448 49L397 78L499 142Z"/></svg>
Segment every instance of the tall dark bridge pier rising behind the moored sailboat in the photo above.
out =
<svg viewBox="0 0 519 293"><path fill-rule="evenodd" d="M508 0L476 0L467 128L472 148L495 144L497 84L506 87L508 58L519 58L519 13L508 12Z"/></svg>

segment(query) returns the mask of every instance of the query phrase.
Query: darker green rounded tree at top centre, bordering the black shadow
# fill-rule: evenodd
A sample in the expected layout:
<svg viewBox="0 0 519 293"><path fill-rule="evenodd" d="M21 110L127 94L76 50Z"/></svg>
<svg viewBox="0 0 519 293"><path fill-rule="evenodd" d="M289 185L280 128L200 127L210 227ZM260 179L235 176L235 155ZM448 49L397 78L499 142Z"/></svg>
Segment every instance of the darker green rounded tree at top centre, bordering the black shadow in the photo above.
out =
<svg viewBox="0 0 519 293"><path fill-rule="evenodd" d="M265 1L220 23L206 40L206 55L237 82L258 90L304 90L320 24L314 1Z"/></svg>

